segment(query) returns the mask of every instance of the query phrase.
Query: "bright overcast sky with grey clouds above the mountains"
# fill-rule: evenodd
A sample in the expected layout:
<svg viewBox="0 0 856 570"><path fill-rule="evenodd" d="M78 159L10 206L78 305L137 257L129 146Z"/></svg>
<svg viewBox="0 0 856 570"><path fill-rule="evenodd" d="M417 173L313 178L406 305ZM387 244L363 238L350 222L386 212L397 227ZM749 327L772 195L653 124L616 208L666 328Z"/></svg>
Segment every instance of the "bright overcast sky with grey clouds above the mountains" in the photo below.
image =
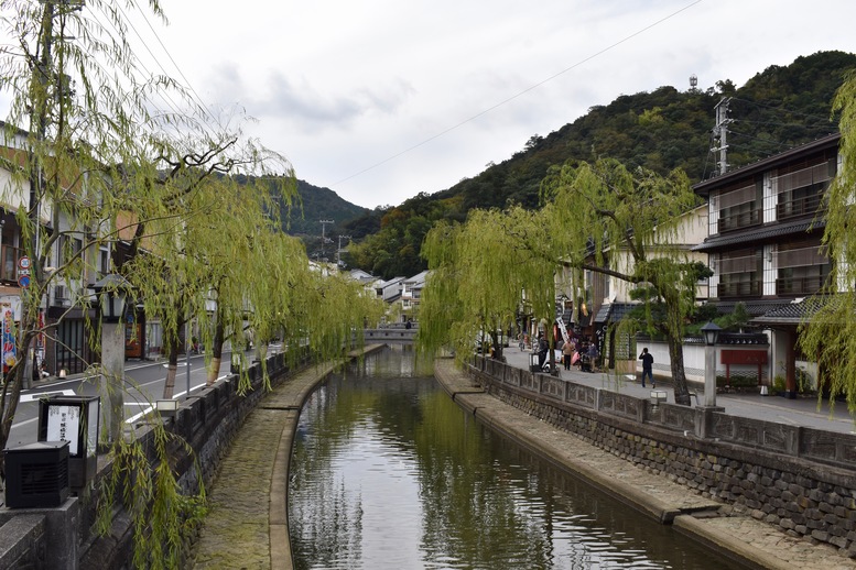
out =
<svg viewBox="0 0 856 570"><path fill-rule="evenodd" d="M145 43L170 75L246 109L299 178L369 208L448 188L621 94L685 90L693 74L701 89L743 86L800 55L856 52L853 0L162 6L170 24Z"/></svg>

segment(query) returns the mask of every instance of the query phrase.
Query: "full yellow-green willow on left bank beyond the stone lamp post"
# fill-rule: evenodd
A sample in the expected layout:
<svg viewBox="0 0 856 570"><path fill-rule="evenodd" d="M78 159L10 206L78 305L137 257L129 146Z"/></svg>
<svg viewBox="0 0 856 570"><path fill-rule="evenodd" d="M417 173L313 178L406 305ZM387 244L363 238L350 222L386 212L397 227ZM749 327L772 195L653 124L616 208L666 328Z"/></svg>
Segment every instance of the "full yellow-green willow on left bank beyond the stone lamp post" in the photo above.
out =
<svg viewBox="0 0 856 570"><path fill-rule="evenodd" d="M234 347L246 344L242 321L248 310L267 315L249 307L247 299L250 289L263 285L261 275L277 263L264 257L271 252L262 251L259 242L279 231L277 205L293 195L292 177L275 180L238 183L229 175L184 169L164 180L160 204L133 211L144 221L134 224L132 243L143 243L148 251L136 255L123 272L145 314L163 327L169 359L163 397L173 396L184 329L188 341L191 327L196 327L193 333L202 336L214 354L214 359L206 354L209 372L216 372L226 340ZM299 259L279 262L301 265Z"/></svg>

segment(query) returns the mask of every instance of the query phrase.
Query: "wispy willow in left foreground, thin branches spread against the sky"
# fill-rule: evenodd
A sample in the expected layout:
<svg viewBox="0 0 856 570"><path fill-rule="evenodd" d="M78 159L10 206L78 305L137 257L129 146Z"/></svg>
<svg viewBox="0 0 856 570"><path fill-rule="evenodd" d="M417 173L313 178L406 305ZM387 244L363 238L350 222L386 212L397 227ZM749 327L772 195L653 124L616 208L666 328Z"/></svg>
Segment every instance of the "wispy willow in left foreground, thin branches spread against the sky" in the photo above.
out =
<svg viewBox="0 0 856 570"><path fill-rule="evenodd" d="M56 331L67 315L91 318L87 285L107 271L122 270L116 254L117 266L100 263L101 252L117 251L128 240L127 230L138 230L131 242L142 249L155 235L147 228L180 235L204 210L178 206L192 200L206 177L290 173L284 158L246 138L235 123L216 124L170 77L142 69L124 35L126 13L137 6L117 10L115 2L101 0L0 2L0 28L8 42L0 50L0 90L10 100L0 152L2 202L15 213L20 246L31 261L14 331L18 359L0 388L0 447L6 447L29 379L36 337L61 343ZM163 17L156 0L143 6ZM172 108L164 110L159 105L164 101ZM160 223L165 220L172 224ZM166 273L159 278L167 279ZM58 284L74 293L71 304L65 315L42 325L40 307ZM96 331L97 353L98 322L87 324ZM100 373L112 390L122 390L120 377L90 364L94 375ZM154 429L159 464L145 464L136 441L116 438L113 483L106 486L122 487L115 478L133 481L124 489L136 525L134 566L175 567L181 525L195 507L181 496L172 476L169 446L162 445L171 436L160 425ZM102 504L109 511L111 503Z"/></svg>

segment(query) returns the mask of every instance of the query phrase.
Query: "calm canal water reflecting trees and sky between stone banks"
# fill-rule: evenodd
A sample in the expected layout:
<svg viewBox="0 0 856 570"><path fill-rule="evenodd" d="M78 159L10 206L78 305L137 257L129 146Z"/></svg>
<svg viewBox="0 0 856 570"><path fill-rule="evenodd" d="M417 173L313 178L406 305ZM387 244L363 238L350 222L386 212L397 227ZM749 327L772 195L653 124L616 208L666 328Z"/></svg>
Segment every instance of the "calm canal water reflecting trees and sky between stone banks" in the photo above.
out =
<svg viewBox="0 0 856 570"><path fill-rule="evenodd" d="M408 346L306 402L289 525L299 570L737 568L490 431Z"/></svg>

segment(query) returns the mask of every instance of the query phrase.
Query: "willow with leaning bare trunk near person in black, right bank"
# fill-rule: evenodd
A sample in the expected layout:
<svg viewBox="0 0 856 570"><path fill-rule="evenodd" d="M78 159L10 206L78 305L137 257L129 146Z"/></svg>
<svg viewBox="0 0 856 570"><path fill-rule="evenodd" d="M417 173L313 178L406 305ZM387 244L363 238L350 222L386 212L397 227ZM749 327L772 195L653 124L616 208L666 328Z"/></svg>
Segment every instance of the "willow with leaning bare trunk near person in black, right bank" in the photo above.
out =
<svg viewBox="0 0 856 570"><path fill-rule="evenodd" d="M673 171L663 177L600 160L554 168L543 191L552 255L646 292L640 300L648 307L648 328L662 333L669 347L675 402L689 405L683 333L703 267L680 248L680 218L697 204L686 176ZM582 288L579 272L572 275L573 287ZM662 308L659 315L653 302Z"/></svg>

